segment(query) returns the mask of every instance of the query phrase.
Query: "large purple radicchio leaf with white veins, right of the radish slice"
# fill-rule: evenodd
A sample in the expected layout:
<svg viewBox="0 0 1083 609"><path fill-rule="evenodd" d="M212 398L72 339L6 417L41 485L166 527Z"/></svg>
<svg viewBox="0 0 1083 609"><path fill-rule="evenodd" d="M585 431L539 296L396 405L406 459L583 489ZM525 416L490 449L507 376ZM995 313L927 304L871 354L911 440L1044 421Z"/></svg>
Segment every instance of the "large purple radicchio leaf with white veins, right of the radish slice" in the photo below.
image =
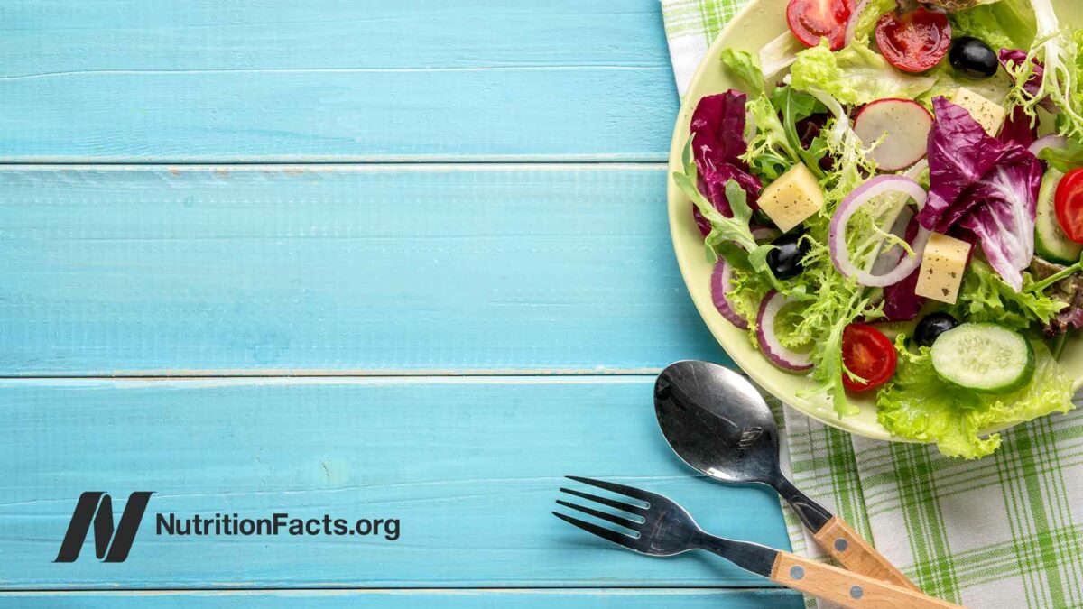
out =
<svg viewBox="0 0 1083 609"><path fill-rule="evenodd" d="M1019 144L989 137L965 108L944 98L932 105L929 199L917 220L938 233L970 231L990 265L1018 291L1034 257L1042 165Z"/></svg>

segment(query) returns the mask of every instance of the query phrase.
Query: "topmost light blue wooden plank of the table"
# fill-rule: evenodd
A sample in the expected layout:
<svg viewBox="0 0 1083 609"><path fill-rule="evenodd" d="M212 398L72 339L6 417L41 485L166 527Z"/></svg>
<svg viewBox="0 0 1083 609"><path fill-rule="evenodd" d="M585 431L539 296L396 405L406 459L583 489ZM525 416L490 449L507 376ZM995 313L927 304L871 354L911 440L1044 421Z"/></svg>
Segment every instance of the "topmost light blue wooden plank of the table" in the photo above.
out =
<svg viewBox="0 0 1083 609"><path fill-rule="evenodd" d="M0 160L664 160L656 0L13 0Z"/></svg>

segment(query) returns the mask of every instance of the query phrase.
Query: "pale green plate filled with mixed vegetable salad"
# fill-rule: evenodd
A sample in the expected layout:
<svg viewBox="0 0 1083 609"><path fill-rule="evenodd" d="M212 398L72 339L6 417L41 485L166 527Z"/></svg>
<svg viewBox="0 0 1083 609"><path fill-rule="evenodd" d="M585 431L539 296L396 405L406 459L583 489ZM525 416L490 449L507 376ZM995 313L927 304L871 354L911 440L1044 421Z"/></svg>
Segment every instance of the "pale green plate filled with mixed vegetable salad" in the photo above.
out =
<svg viewBox="0 0 1083 609"><path fill-rule="evenodd" d="M978 458L1083 385L1083 2L754 0L686 93L669 223L729 355Z"/></svg>

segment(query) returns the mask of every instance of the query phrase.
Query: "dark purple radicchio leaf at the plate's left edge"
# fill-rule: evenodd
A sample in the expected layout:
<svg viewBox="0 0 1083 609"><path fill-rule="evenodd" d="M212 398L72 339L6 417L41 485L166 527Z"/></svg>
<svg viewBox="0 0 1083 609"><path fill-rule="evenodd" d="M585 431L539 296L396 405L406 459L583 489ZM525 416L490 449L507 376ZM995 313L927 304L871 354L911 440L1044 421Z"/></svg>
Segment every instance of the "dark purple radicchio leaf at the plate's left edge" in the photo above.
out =
<svg viewBox="0 0 1083 609"><path fill-rule="evenodd" d="M722 216L733 217L726 199L726 183L736 181L748 193L748 205L756 207L762 183L739 157L748 150L744 140L745 103L747 95L735 89L707 95L700 100L692 113L692 155L695 159L697 186L703 196ZM695 223L706 236L710 222L693 206Z"/></svg>

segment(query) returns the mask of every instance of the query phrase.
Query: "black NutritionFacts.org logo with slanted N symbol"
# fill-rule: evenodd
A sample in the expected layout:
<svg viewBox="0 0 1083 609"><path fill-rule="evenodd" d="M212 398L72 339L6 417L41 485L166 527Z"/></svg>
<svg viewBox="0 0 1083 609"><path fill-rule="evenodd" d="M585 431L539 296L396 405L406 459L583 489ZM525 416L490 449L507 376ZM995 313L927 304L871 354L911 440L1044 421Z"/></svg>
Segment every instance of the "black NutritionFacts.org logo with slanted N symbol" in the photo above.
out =
<svg viewBox="0 0 1083 609"><path fill-rule="evenodd" d="M102 491L79 495L71 521L61 542L54 562L75 562L87 535L94 535L94 554L103 562L123 562L128 558L153 491L136 491L114 526L113 498ZM340 518L324 514L318 518L297 518L276 511L264 517L243 517L239 514L155 515L155 534L165 537L287 535L293 537L379 536L393 542L399 539L399 518Z"/></svg>

